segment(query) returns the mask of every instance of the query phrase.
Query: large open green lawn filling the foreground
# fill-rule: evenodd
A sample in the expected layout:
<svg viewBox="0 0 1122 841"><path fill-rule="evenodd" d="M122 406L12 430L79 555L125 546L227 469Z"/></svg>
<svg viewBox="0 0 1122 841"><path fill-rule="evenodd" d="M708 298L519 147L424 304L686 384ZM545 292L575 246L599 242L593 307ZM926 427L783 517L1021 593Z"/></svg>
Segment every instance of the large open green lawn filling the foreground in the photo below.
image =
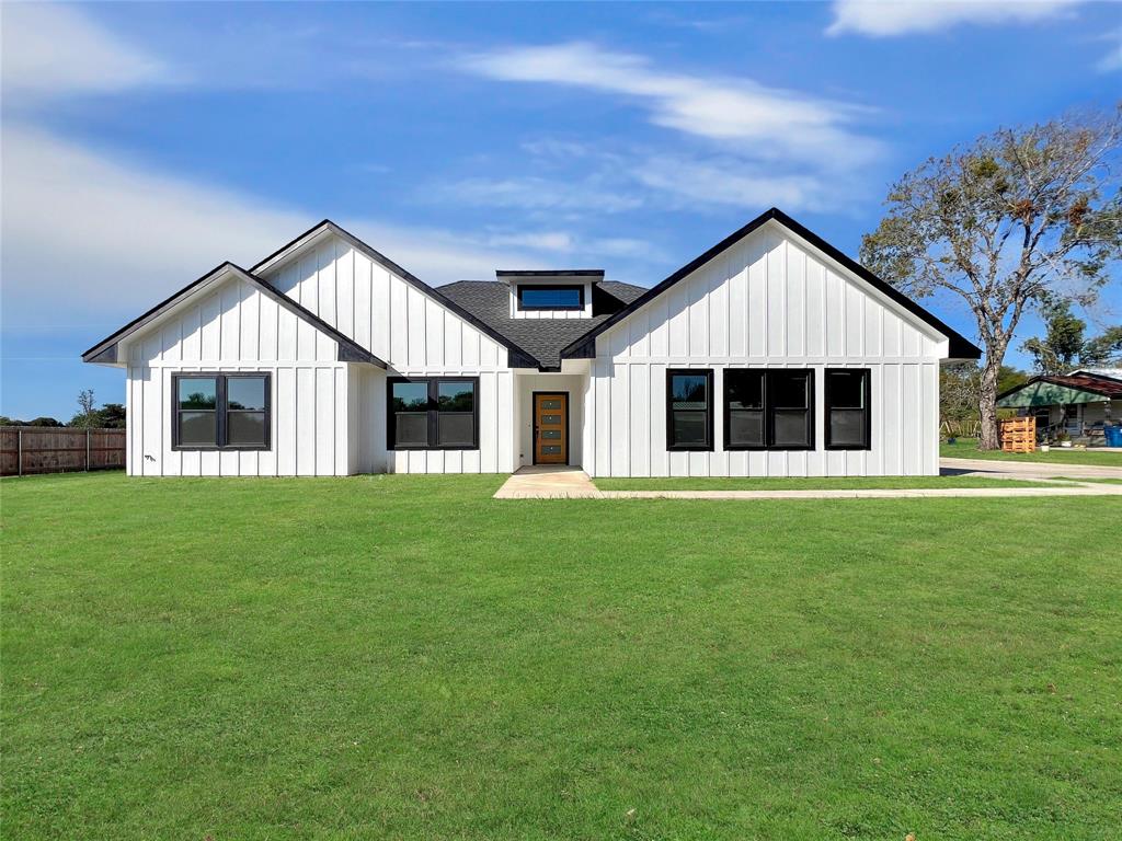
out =
<svg viewBox="0 0 1122 841"><path fill-rule="evenodd" d="M3 837L1115 839L1114 499L4 480Z"/></svg>

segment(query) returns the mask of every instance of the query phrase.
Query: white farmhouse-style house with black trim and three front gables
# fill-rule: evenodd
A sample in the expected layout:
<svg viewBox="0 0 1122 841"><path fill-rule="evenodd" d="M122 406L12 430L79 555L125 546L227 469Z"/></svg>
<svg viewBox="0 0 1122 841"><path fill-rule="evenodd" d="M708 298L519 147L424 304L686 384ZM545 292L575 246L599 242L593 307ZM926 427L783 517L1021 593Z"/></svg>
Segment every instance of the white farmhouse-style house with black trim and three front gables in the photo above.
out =
<svg viewBox="0 0 1122 841"><path fill-rule="evenodd" d="M977 348L778 210L646 289L434 289L325 221L83 354L128 377L134 475L938 472L939 364Z"/></svg>

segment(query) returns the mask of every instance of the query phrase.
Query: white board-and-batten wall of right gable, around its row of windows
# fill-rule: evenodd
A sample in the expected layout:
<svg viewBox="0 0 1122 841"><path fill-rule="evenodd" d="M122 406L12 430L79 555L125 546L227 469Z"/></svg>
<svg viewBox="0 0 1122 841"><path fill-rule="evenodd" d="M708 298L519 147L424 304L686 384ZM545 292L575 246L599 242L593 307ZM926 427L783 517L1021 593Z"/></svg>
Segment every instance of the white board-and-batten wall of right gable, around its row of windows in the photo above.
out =
<svg viewBox="0 0 1122 841"><path fill-rule="evenodd" d="M926 325L925 325L926 326ZM936 474L946 339L769 224L596 340L585 397L591 475ZM872 371L872 449L825 449L824 369ZM666 450L666 369L714 369L712 452ZM815 370L812 451L725 451L724 369Z"/></svg>

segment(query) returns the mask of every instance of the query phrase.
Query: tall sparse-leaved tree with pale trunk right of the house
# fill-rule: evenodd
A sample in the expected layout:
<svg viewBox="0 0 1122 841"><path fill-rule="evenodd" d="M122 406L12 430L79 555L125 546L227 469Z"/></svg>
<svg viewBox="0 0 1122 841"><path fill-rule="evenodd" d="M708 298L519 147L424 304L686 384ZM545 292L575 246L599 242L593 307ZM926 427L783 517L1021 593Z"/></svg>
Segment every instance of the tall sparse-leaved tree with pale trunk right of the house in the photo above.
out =
<svg viewBox="0 0 1122 841"><path fill-rule="evenodd" d="M1002 129L931 158L889 192L862 260L902 289L960 296L985 349L981 449L997 444L997 377L1030 308L1088 304L1122 258L1122 201L1111 165L1122 110Z"/></svg>

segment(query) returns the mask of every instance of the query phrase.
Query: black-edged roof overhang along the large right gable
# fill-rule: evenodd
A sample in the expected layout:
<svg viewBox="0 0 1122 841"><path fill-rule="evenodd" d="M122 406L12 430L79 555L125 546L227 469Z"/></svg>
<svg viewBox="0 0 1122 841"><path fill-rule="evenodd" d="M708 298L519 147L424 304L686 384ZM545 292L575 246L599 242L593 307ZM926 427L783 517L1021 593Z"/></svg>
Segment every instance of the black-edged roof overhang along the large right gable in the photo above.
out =
<svg viewBox="0 0 1122 841"><path fill-rule="evenodd" d="M934 329L938 333L945 335L948 340L948 354L951 359L978 359L982 355L982 351L969 340L963 336L960 333L949 327L942 321L937 318L926 308L917 304L914 301L909 298L907 295L901 293L899 289L881 280L876 275L866 269L864 266L858 264L856 260L847 257L845 253L836 249L834 246L829 244L821 237L817 235L807 228L795 222L793 219L788 216L778 207L772 207L769 211L756 216L754 220L748 222L746 225L735 231L730 235L726 237L724 240L718 242L716 246L705 251L703 253L690 260L688 264L682 266L680 269L674 271L668 278L653 286L646 293L641 295L638 298L628 304L625 308L617 312L610 318L605 320L600 324L596 325L589 330L585 335L580 336L578 340L570 343L567 348L561 351L562 358L573 358L573 357L588 357L591 355L595 348L595 339L597 335L609 330L614 325L627 318L634 312L643 307L645 304L657 298L660 295L665 293L668 289L672 288L679 281L691 276L695 271L700 269L706 264L710 262L715 258L719 257L721 253L728 249L736 246L738 242L744 240L748 234L758 230L769 222L774 222L782 228L787 229L790 233L804 240L809 246L817 249L826 257L837 262L842 268L846 269L850 274L855 275L857 278L868 284L873 289L882 294L889 301L894 303L900 308L909 313L917 322Z"/></svg>

